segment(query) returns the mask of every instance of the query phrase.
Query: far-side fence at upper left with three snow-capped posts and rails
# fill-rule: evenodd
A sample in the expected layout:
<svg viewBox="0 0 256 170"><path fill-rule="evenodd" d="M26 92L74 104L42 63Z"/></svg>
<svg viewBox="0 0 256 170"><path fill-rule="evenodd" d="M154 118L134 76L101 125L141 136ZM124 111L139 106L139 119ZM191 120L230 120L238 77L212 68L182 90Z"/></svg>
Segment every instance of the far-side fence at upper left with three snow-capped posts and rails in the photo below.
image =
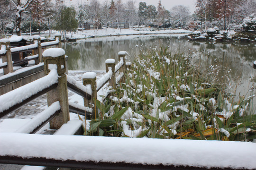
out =
<svg viewBox="0 0 256 170"><path fill-rule="evenodd" d="M41 42L40 36L33 37L33 44L13 47L10 46L9 39L0 39L0 57L2 58L2 63L0 69L3 68L4 75L13 72L13 66L19 66L21 64L27 63L30 60L35 60L35 64L43 62L42 58L42 48L56 46L61 48L61 35L55 34L55 41L53 42ZM33 50L34 55L26 57L25 59L20 59L18 61L12 61L12 54L20 53L25 51Z"/></svg>

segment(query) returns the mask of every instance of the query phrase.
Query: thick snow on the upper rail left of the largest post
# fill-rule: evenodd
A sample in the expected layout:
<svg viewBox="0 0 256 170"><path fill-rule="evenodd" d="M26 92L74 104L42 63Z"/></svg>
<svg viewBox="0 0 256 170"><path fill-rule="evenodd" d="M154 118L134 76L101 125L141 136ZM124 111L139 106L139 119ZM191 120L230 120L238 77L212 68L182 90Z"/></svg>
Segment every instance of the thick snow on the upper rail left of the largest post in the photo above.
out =
<svg viewBox="0 0 256 170"><path fill-rule="evenodd" d="M44 76L27 85L21 86L15 90L0 96L0 112L9 109L15 104L24 101L28 97L58 82L57 70L51 70L47 76Z"/></svg>

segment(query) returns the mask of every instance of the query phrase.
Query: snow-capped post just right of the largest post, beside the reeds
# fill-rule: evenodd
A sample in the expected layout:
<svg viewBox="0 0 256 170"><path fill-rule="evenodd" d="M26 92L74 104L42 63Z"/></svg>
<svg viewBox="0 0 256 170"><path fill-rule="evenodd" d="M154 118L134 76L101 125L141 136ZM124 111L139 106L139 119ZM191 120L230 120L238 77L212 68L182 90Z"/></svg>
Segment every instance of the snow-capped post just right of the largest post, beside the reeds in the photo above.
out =
<svg viewBox="0 0 256 170"><path fill-rule="evenodd" d="M96 84L96 73L87 72L82 75L82 84L85 86L91 86L91 99L84 98L84 106L92 108L91 119L98 117L98 109L95 104L97 100L97 84ZM86 113L85 113L86 114Z"/></svg>

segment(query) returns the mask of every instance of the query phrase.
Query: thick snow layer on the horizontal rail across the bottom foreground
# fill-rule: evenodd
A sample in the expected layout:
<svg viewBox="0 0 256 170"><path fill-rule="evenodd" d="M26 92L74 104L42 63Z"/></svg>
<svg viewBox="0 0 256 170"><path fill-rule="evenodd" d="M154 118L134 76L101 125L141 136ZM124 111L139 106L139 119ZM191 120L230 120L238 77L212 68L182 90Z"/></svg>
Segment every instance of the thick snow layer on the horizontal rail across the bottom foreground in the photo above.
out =
<svg viewBox="0 0 256 170"><path fill-rule="evenodd" d="M256 144L248 142L16 133L0 133L0 139L1 156L207 168L256 168Z"/></svg>

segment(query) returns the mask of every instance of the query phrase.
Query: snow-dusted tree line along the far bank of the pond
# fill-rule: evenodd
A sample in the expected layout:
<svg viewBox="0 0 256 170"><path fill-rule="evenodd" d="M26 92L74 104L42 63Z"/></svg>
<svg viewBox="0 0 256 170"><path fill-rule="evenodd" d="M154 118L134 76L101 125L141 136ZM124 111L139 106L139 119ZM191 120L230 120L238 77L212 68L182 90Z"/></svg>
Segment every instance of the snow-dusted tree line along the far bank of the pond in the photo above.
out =
<svg viewBox="0 0 256 170"><path fill-rule="evenodd" d="M67 7L64 0L1 0L0 34L18 35L46 30L73 32L84 23L111 27L113 23L127 22L129 27L183 28L206 31L238 29L243 19L256 13L256 0L196 0L191 15L189 7L178 5L165 9L161 0L157 7L135 0L87 0Z"/></svg>

